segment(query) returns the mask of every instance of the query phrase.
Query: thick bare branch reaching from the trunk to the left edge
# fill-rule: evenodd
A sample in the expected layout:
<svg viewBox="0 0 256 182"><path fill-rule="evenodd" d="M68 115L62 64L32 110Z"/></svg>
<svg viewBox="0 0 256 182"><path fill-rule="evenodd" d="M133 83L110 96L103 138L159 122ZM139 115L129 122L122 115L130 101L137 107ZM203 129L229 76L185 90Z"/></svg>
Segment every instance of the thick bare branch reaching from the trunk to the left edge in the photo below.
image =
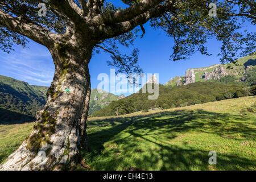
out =
<svg viewBox="0 0 256 182"><path fill-rule="evenodd" d="M51 46L57 37L57 34L46 28L33 23L25 23L19 18L14 18L9 14L4 13L2 10L0 10L0 24L9 30L18 32L46 47Z"/></svg>

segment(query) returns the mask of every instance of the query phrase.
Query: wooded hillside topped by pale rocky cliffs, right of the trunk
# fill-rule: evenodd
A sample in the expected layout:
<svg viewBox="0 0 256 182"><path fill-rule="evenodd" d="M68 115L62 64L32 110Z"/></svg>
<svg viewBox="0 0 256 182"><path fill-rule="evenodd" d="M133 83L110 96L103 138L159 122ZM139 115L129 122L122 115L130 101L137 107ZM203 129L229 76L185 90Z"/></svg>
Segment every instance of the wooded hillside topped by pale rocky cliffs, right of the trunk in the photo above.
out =
<svg viewBox="0 0 256 182"><path fill-rule="evenodd" d="M232 64L189 69L184 77L174 77L159 85L157 100L148 94L131 94L96 111L92 116L129 114L137 111L169 109L210 101L254 95L256 90L256 56L246 56Z"/></svg>

